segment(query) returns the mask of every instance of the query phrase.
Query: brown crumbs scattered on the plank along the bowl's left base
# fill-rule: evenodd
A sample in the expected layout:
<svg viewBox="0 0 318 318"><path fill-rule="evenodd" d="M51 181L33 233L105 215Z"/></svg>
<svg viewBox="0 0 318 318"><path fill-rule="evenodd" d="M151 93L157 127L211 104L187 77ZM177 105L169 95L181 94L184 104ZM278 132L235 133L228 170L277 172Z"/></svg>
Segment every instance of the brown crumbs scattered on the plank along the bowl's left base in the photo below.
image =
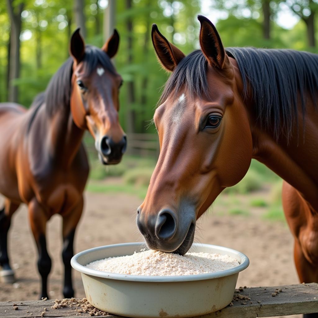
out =
<svg viewBox="0 0 318 318"><path fill-rule="evenodd" d="M77 298L65 298L65 299L56 299L54 301L53 309L58 308L73 308L76 310L76 315L81 315L83 313L88 313L90 316L107 316L108 314L105 311L99 310L91 305L86 298L77 299Z"/></svg>

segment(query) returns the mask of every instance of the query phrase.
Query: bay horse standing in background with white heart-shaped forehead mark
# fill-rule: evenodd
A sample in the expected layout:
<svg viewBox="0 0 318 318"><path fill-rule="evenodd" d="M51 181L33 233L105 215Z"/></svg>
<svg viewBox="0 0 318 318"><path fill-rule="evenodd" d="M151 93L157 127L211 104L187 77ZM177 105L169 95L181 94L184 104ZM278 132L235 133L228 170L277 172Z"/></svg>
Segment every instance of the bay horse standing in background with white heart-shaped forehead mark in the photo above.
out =
<svg viewBox="0 0 318 318"><path fill-rule="evenodd" d="M29 110L15 103L0 104L0 193L5 197L0 211L0 275L5 282L14 281L7 234L13 213L25 203L38 248L41 298L48 298L52 262L45 232L54 214L63 218L63 294L74 295L70 261L89 173L84 132L89 130L95 139L102 164L120 162L126 149L118 121L122 78L111 62L118 46L116 30L99 49L85 45L77 29L70 40L71 56Z"/></svg>

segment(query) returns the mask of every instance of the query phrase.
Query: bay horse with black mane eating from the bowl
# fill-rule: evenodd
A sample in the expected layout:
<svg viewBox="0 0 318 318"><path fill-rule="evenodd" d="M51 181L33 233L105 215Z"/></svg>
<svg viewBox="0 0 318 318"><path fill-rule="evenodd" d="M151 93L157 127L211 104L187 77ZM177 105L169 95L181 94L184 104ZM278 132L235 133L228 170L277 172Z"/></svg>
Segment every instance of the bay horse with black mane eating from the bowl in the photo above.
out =
<svg viewBox="0 0 318 318"><path fill-rule="evenodd" d="M299 279L318 282L318 55L225 49L211 21L198 20L201 49L187 56L152 27L158 60L172 73L153 118L160 155L138 229L150 249L184 255L197 219L255 158L285 180Z"/></svg>

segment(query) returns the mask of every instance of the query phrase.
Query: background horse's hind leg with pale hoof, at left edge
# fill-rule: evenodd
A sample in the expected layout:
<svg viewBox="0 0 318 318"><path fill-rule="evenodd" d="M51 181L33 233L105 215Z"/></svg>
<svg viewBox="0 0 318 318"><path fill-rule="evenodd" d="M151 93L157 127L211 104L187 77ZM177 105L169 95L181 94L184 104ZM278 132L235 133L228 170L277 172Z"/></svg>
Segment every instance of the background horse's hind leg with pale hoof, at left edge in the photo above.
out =
<svg viewBox="0 0 318 318"><path fill-rule="evenodd" d="M14 272L10 267L8 256L8 232L11 224L11 217L20 204L12 203L9 199L5 199L4 208L0 211L0 272L1 281L3 283L14 283Z"/></svg>

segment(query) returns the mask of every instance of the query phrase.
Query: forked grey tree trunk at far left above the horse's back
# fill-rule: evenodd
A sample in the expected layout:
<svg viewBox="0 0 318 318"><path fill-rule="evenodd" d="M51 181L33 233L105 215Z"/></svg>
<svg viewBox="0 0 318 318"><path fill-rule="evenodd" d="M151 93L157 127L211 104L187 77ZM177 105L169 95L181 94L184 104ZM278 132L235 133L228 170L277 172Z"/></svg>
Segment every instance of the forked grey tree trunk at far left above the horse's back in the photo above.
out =
<svg viewBox="0 0 318 318"><path fill-rule="evenodd" d="M18 101L18 87L13 81L20 76L20 33L21 12L24 3L13 6L13 0L7 0L7 9L10 16L10 66L9 66L9 101Z"/></svg>

